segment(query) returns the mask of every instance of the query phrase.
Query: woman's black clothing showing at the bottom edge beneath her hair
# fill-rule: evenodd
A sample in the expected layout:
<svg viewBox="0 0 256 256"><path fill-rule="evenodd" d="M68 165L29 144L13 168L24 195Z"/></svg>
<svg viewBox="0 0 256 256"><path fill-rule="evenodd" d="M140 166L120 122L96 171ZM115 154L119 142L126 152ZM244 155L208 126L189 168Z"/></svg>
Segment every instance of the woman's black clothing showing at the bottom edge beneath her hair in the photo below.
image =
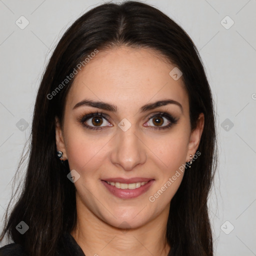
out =
<svg viewBox="0 0 256 256"><path fill-rule="evenodd" d="M57 249L58 256L85 256L81 247L69 233L62 235ZM0 256L27 256L22 247L16 243L10 243L0 248ZM170 256L170 252L168 254Z"/></svg>

